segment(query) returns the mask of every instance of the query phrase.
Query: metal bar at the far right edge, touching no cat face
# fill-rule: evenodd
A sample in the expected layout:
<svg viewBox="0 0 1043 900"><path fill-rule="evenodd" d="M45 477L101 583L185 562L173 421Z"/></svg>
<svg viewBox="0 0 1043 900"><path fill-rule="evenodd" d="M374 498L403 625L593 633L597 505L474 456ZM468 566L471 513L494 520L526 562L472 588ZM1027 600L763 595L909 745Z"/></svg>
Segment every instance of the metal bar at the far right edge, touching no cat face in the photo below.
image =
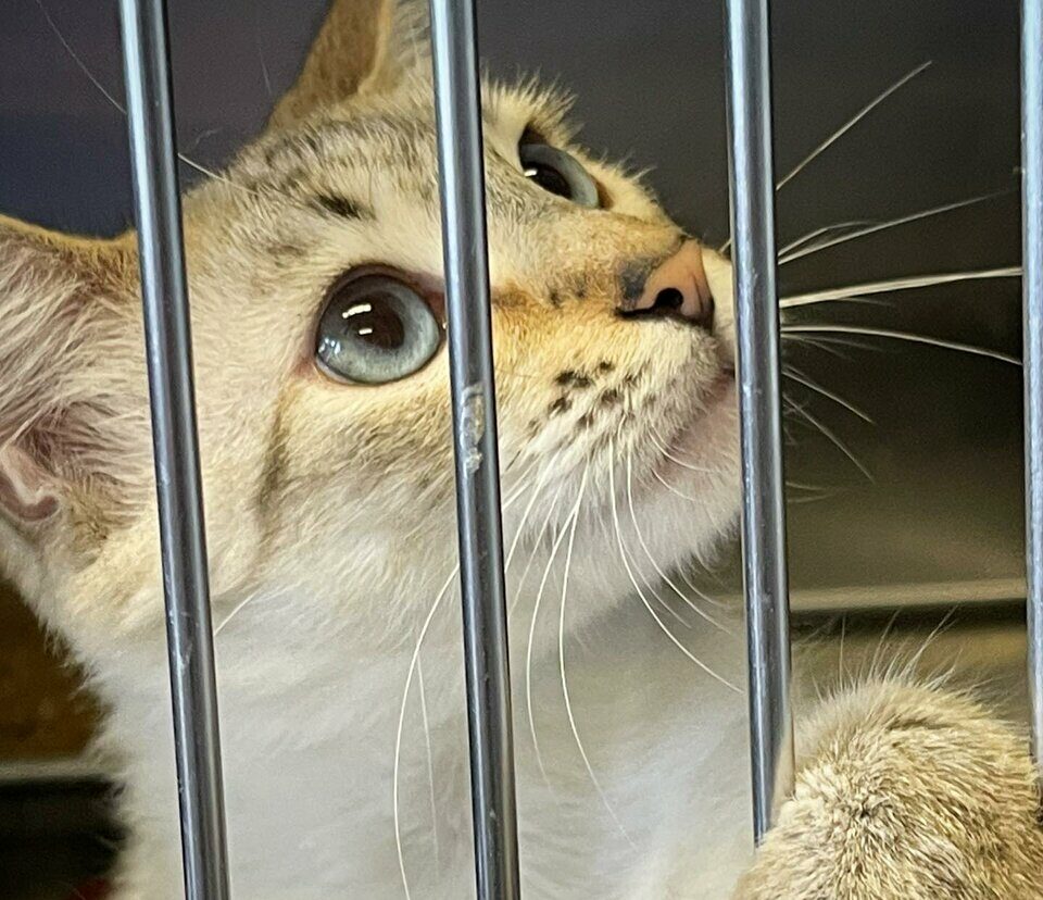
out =
<svg viewBox="0 0 1043 900"><path fill-rule="evenodd" d="M1021 172L1029 697L1043 765L1043 0L1021 3Z"/></svg>

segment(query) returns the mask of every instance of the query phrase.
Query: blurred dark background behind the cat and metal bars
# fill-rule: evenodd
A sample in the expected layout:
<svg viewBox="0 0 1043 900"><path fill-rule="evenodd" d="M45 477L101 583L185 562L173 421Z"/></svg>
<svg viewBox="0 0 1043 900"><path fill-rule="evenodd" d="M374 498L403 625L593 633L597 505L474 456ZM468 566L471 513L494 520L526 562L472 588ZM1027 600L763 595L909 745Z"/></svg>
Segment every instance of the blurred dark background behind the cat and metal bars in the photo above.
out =
<svg viewBox="0 0 1043 900"><path fill-rule="evenodd" d="M219 167L259 129L325 5L169 0L183 153ZM585 142L636 168L651 166L666 207L719 243L728 236L721 7L719 0L481 0L481 49L494 73L540 72L573 89ZM781 189L780 246L833 223L883 223L1006 191L786 265L782 293L1016 265L1014 0L777 0L772 15L780 176L890 85L932 63ZM127 227L122 98L114 0L4 0L0 211L74 232ZM191 185L198 173L183 166L181 176ZM790 321L1020 352L1017 279L878 299L819 304ZM1023 590L1018 368L897 339L814 337L850 342L788 345L788 362L872 423L821 393L788 386L799 408L788 416L795 608L966 601L991 609L993 601L1017 601ZM734 567L711 584L734 592ZM1017 618L1016 605L995 609L1014 609ZM55 847L64 850L50 855L58 865L64 852L70 872L83 874L103 864L112 840L103 832L99 843L97 828L84 825L95 820L83 810L104 795L79 777L77 761L95 713L73 698L74 677L58 671L60 648L48 650L16 601L0 602L0 612L15 623L0 629L0 873L13 877L14 862L40 858L38 845L24 843L32 821L45 823L32 840L88 835L83 847L62 838ZM27 784L36 785L32 802ZM65 799L48 805L51 795L39 787L46 784ZM70 795L70 784L80 793ZM0 875L0 898L27 896L12 885Z"/></svg>

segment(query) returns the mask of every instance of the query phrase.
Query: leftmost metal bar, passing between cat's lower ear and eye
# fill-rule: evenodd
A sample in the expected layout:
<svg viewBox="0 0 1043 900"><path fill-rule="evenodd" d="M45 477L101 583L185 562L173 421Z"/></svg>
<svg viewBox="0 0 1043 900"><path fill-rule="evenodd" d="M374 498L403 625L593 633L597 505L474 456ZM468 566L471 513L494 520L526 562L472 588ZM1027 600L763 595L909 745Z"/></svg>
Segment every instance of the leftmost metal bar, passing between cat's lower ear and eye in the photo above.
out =
<svg viewBox="0 0 1043 900"><path fill-rule="evenodd" d="M210 586L164 0L121 0L152 407L181 851L190 900L228 897Z"/></svg>

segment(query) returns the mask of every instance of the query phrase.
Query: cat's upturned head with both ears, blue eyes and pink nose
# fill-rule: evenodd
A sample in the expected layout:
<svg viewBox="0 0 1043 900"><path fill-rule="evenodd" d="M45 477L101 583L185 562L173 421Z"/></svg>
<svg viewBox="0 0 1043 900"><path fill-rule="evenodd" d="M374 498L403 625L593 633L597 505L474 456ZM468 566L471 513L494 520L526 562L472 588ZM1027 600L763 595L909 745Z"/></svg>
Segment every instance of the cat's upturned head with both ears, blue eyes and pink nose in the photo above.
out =
<svg viewBox="0 0 1043 900"><path fill-rule="evenodd" d="M265 132L184 199L216 618L257 593L405 609L455 562L417 22L338 0ZM666 568L734 516L731 275L566 113L483 87L506 538L549 553L575 516L612 597L621 558ZM133 234L0 221L0 553L73 632L162 622L138 286Z"/></svg>

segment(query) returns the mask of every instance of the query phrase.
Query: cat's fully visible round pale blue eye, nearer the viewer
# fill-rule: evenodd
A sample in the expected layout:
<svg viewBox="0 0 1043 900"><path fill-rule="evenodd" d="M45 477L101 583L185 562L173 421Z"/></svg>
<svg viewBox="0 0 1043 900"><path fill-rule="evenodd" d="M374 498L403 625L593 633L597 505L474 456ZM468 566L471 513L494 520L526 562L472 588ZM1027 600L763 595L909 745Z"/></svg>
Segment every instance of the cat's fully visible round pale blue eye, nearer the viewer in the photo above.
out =
<svg viewBox="0 0 1043 900"><path fill-rule="evenodd" d="M349 275L329 292L315 359L338 382L382 385L423 367L441 341L441 323L405 282L387 274Z"/></svg>

